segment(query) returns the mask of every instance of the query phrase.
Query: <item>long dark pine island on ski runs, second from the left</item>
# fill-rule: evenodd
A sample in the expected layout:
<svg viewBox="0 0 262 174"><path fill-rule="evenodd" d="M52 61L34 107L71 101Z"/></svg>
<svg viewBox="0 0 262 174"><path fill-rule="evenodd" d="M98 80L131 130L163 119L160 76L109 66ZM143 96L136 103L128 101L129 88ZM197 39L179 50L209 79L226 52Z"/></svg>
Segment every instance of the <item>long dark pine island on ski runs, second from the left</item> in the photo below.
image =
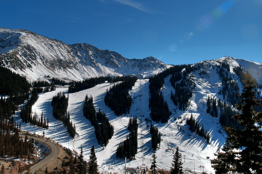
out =
<svg viewBox="0 0 262 174"><path fill-rule="evenodd" d="M98 112L95 112L95 106L93 105L93 97L86 95L83 114L86 119L88 119L92 126L95 128L95 137L98 141L98 144L101 146L107 146L109 139L114 135L114 126L109 122L109 119L106 117L106 113L101 111L100 107Z"/></svg>

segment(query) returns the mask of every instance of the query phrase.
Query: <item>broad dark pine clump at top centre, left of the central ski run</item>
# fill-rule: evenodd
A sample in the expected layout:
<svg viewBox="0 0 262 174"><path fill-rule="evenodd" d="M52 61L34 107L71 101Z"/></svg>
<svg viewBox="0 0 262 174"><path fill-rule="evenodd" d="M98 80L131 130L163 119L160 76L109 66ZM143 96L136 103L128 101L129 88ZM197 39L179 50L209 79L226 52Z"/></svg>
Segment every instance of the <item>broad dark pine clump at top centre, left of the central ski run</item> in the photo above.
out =
<svg viewBox="0 0 262 174"><path fill-rule="evenodd" d="M128 90L132 89L137 77L124 76L122 82L114 84L107 89L105 94L105 104L114 111L116 115L126 114L130 110L132 97L129 96Z"/></svg>

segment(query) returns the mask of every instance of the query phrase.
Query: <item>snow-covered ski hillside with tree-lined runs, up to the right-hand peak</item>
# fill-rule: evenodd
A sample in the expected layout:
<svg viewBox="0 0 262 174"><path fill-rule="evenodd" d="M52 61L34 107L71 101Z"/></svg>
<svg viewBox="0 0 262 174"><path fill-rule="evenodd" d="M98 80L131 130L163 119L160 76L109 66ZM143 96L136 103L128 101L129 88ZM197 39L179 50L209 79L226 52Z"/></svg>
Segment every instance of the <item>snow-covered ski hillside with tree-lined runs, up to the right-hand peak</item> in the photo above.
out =
<svg viewBox="0 0 262 174"><path fill-rule="evenodd" d="M226 68L220 66L222 63L226 63ZM136 154L136 160L127 161L128 167L138 167L143 163L150 168L153 149L151 148L151 134L149 133L149 127L151 122L158 127L161 133L160 147L156 151L157 165L159 169L169 170L173 158L173 150L176 146L179 147L184 161L183 168L187 171L214 173L210 164L210 159L214 158L213 153L216 153L219 148L222 147L225 142L226 134L224 133L221 124L219 123L220 111L218 111L218 117L211 116L206 113L208 96L215 99L222 99L223 101L230 101L228 94L223 96L219 93L220 90L226 86L222 81L222 77L219 74L219 70L224 70L224 73L228 72L231 81L236 82L239 93L242 91L242 83L233 68L238 67L248 69L250 73L261 83L262 64L235 59L232 57L223 57L217 60L203 61L192 65L197 70L194 70L187 74L187 79L194 82L196 87L193 89L192 97L185 110L179 110L178 106L175 106L171 100L171 90L174 92L174 88L171 85L170 77L168 75L164 81L161 91L164 95L164 100L167 101L170 111L172 112L167 123L157 123L151 121L149 105L149 81L148 79L138 79L132 90L129 91L132 96L132 105L130 108L130 115L138 116L138 153ZM185 69L183 70L185 71ZM225 74L224 74L225 75ZM178 81L179 82L179 81ZM176 83L178 83L176 82ZM224 84L223 84L224 83ZM230 82L227 82L230 84ZM236 85L235 84L235 85ZM67 111L70 112L70 120L76 126L77 135L72 139L66 131L64 125L54 119L52 116L51 101L52 97L59 91L65 91L67 94L68 88L56 88L56 91L39 94L37 102L32 107L32 112L40 115L42 112L45 117L49 117L49 129L41 129L33 127L29 124L21 122L19 112L16 113L17 122L21 122L22 129L29 132L36 132L36 134L43 134L45 136L54 139L59 144L70 148L77 153L80 153L80 147L83 146L84 157L89 159L89 153L91 146L95 145L95 153L98 157L99 171L101 172L118 172L123 173L124 160L116 159L116 148L123 142L128 135L127 125L129 122L129 115L116 116L114 112L109 109L104 102L104 96L107 89L113 84L104 83L96 85L93 88L79 91L77 93L69 94L69 104ZM259 90L260 96L262 96L261 89ZM106 148L101 148L95 138L94 128L90 124L90 121L84 118L82 108L85 96L92 95L93 103L96 110L101 107L105 111L109 121L114 126L114 135L109 139L109 143ZM194 132L189 131L189 126L186 124L186 118L190 115L200 123L203 124L204 129L210 134L210 143L206 143L206 139L200 137ZM141 116L140 116L141 115ZM181 130L180 130L181 127ZM59 134L57 133L59 132ZM208 159L209 157L209 159ZM109 168L111 166L111 168Z"/></svg>

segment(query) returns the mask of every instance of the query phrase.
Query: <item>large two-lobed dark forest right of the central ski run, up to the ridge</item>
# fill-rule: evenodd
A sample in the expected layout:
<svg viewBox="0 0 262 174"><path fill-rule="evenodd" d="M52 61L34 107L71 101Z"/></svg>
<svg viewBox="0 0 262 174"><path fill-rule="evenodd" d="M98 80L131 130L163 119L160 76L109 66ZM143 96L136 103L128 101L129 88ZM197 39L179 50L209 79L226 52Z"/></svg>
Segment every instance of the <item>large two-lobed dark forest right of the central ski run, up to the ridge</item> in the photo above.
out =
<svg viewBox="0 0 262 174"><path fill-rule="evenodd" d="M185 71L182 74L184 68ZM186 74L191 73L196 69L197 68L190 64L176 65L158 73L157 75L149 77L149 108L151 110L151 119L153 121L166 123L171 115L167 102L164 101L164 97L160 91L164 84L164 78L171 75L170 81L175 89L175 93L171 94L172 100L176 106L179 104L180 109L182 110L183 108L184 110L188 105L189 99L192 96L192 89L194 88L194 84L188 84L191 83L191 81L186 79ZM182 77L184 80L178 84L179 88L176 88L175 83L180 81Z"/></svg>

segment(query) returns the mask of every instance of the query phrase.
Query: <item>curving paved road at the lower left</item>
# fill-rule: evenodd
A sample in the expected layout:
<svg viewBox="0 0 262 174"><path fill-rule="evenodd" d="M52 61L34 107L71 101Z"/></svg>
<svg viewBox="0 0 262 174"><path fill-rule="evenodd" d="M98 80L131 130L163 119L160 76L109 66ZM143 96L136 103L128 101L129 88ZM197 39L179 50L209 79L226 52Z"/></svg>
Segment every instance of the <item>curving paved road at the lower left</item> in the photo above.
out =
<svg viewBox="0 0 262 174"><path fill-rule="evenodd" d="M20 136L22 136L23 138L25 137L25 135L20 135ZM29 135L28 138L31 138L31 136ZM53 142L50 142L46 139L34 137L34 136L32 136L32 138L34 138L34 140L38 140L39 142L42 142L42 143L46 144L47 146L49 146L49 148L51 149L51 153L44 160L33 165L30 168L30 173L34 173L35 171L37 171L41 167L45 166L47 163L49 163L51 160L53 160L56 157L56 155L59 153L59 149L58 149L57 145L54 144ZM25 172L26 171L24 171L22 174L24 174Z"/></svg>

